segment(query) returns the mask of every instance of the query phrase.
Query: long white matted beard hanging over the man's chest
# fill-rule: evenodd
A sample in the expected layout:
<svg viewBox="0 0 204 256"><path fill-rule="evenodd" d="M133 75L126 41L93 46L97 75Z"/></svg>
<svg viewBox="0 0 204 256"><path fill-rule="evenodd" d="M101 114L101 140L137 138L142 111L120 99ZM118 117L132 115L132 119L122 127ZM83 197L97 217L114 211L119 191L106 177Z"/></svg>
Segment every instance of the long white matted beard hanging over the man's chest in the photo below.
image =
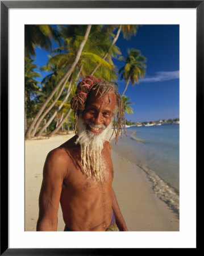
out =
<svg viewBox="0 0 204 256"><path fill-rule="evenodd" d="M95 134L86 129L81 114L77 121L77 141L81 147L81 164L84 173L88 177L96 177L98 181L102 181L102 155L103 143L109 141L113 130L112 122L99 134Z"/></svg>

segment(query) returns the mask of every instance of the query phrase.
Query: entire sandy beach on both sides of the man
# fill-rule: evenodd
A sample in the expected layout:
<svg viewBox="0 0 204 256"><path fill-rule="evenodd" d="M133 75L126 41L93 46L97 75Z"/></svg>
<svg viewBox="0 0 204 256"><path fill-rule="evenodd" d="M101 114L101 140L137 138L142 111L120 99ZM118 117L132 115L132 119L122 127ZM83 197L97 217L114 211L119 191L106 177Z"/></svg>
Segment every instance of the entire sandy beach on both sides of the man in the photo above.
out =
<svg viewBox="0 0 204 256"><path fill-rule="evenodd" d="M43 166L49 151L60 146L74 134L56 135L49 139L25 142L25 230L36 231L38 199L43 179ZM145 172L112 150L114 164L113 188L128 231L179 231L176 213L152 190ZM59 207L57 231L64 230Z"/></svg>

